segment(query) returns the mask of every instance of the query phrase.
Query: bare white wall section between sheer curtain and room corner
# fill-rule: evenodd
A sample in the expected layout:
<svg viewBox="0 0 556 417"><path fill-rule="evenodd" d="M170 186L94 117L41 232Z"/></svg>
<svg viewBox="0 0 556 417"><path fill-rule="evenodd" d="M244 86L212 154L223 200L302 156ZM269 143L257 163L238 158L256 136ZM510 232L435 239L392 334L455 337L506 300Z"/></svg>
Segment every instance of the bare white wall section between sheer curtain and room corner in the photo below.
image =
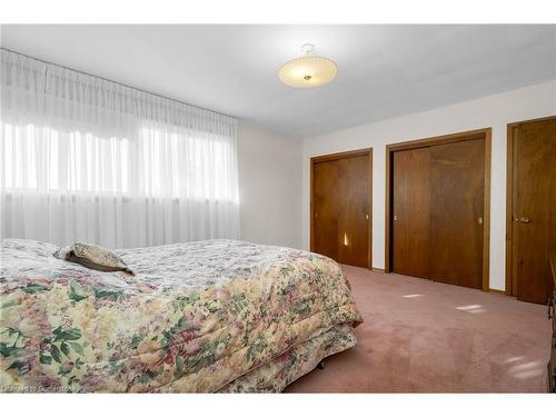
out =
<svg viewBox="0 0 556 417"><path fill-rule="evenodd" d="M240 238L302 247L302 142L240 120Z"/></svg>

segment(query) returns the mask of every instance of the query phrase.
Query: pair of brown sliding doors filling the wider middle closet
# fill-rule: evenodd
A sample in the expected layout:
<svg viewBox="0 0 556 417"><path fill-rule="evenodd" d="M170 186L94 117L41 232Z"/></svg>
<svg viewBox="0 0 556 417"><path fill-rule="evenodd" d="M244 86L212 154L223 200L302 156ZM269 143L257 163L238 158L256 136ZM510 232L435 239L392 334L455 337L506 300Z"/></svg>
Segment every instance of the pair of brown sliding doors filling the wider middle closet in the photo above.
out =
<svg viewBox="0 0 556 417"><path fill-rule="evenodd" d="M485 140L393 155L393 271L483 288Z"/></svg>

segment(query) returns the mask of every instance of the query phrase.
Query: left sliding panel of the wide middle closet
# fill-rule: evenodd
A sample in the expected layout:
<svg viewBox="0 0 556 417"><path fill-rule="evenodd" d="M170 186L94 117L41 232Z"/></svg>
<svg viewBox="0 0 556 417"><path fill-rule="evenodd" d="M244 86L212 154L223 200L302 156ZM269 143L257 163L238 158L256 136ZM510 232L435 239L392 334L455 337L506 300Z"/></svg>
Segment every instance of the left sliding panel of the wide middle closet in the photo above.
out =
<svg viewBox="0 0 556 417"><path fill-rule="evenodd" d="M429 148L394 152L393 270L429 276Z"/></svg>

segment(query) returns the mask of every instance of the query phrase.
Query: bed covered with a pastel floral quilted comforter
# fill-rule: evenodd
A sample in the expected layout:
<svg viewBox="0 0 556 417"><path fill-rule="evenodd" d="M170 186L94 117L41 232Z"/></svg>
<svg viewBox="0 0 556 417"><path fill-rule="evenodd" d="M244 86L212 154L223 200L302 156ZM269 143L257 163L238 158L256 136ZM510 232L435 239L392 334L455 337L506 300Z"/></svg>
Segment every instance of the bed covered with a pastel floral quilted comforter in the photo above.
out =
<svg viewBox="0 0 556 417"><path fill-rule="evenodd" d="M4 239L3 391L277 393L353 347L361 322L339 266L236 240L118 250L100 272Z"/></svg>

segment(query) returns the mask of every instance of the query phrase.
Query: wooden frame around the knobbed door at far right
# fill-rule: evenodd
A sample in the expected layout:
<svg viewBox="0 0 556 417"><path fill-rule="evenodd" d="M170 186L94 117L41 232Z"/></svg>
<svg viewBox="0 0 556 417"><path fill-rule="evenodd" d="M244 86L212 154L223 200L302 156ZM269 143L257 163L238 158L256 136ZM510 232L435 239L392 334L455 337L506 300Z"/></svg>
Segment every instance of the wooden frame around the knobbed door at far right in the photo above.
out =
<svg viewBox="0 0 556 417"><path fill-rule="evenodd" d="M514 286L517 285L517 279L514 278L514 129L519 125L535 121L553 120L556 116L542 117L537 119L528 119L514 121L507 125L507 142L506 142L506 289L507 296L517 296Z"/></svg>

